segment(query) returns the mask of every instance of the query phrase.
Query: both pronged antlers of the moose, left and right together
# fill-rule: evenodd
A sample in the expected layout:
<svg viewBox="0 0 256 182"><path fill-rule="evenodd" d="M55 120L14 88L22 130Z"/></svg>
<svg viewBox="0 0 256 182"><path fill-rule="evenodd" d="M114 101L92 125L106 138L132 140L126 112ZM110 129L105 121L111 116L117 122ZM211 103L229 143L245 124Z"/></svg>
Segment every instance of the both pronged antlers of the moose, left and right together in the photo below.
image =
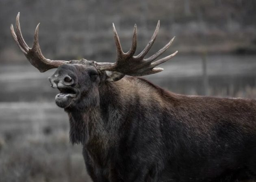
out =
<svg viewBox="0 0 256 182"><path fill-rule="evenodd" d="M38 29L39 24L37 25L37 28L35 29L35 35L34 35L34 42L33 47L30 48L24 41L22 37L22 32L20 29L20 12L18 13L16 17L16 34L13 29L13 25L11 24L11 34L13 36L13 39L17 43L17 45L20 47L22 52L25 54L26 58L29 60L29 62L35 66L40 72L45 72L49 69L57 68L63 64L72 64L75 63L74 61L63 61L63 60L50 60L46 59L43 54L41 53L41 49L38 42ZM163 71L162 68L155 68L159 64L171 59L174 57L178 51L176 51L174 54L171 54L165 58L156 60L158 56L163 54L163 52L171 45L171 43L174 41L174 38L169 41L162 49L160 49L156 54L153 56L150 56L147 59L144 59L145 55L148 53L150 48L152 47L156 36L158 34L160 26L160 21L158 21L156 30L151 37L148 45L141 51L141 53L137 56L134 56L136 47L137 47L137 27L136 24L134 26L134 32L133 32L133 38L132 38L132 47L130 50L126 53L122 51L121 43L119 41L119 37L117 35L117 31L115 30L115 26L113 24L113 31L115 35L115 44L117 49L117 60L115 63L110 62L93 62L95 64L95 67L98 69L98 71L117 71L119 73L123 73L125 75L130 76L143 76L143 75L150 75L154 73L158 73L160 71ZM156 61L155 61L156 60ZM87 60L80 60L79 62L76 62L78 64L88 64Z"/></svg>

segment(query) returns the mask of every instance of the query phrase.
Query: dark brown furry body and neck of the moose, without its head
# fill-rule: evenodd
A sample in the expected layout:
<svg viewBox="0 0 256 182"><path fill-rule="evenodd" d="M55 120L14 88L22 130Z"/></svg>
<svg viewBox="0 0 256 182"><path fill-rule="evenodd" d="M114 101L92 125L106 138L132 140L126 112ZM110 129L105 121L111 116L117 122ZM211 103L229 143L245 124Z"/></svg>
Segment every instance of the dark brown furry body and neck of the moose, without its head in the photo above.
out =
<svg viewBox="0 0 256 182"><path fill-rule="evenodd" d="M95 93L98 105L65 109L71 141L83 144L93 181L205 182L256 175L255 100L178 95L136 77L104 84Z"/></svg>

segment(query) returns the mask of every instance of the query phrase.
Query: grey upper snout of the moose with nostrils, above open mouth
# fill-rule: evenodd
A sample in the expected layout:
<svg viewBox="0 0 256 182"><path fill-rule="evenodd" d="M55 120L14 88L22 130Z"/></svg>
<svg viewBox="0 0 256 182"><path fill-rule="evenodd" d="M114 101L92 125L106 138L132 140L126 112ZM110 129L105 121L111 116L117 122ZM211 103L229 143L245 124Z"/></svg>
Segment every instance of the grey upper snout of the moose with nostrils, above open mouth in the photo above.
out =
<svg viewBox="0 0 256 182"><path fill-rule="evenodd" d="M52 75L48 77L52 88L63 88L65 86L71 86L74 84L74 79L69 75Z"/></svg>

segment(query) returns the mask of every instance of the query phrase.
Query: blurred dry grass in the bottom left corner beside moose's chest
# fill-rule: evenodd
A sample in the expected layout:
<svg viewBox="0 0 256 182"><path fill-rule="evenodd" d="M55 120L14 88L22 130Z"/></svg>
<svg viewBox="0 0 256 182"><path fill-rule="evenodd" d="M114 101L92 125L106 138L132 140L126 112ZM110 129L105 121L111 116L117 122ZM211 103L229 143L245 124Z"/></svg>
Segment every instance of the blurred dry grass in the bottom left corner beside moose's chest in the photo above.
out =
<svg viewBox="0 0 256 182"><path fill-rule="evenodd" d="M7 142L0 150L0 181L89 182L82 155L76 150L63 134Z"/></svg>

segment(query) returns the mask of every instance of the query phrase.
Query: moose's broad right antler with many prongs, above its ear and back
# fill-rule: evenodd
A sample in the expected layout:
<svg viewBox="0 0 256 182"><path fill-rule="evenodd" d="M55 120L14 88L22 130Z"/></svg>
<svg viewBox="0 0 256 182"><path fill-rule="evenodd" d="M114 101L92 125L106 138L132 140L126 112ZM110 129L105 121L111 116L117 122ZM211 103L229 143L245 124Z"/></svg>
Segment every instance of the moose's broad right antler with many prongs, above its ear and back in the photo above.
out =
<svg viewBox="0 0 256 182"><path fill-rule="evenodd" d="M150 48L152 47L156 36L158 34L158 30L160 27L160 21L158 20L156 30L151 37L150 41L146 45L146 47L141 51L140 54L137 56L134 56L136 47L137 47L137 26L135 24L134 26L134 31L133 31L133 38L132 38L132 47L127 53L124 53L121 48L121 43L119 41L119 37L117 35L117 31L115 30L115 26L113 24L113 31L114 31L114 36L115 36L115 44L116 44L116 49L117 49L117 60L115 63L109 63L109 62L94 62L95 66L97 67L98 70L104 71L117 71L120 73L123 73L125 75L130 75L130 76L143 76L143 75L150 75L154 73L158 73L163 71L162 68L155 68L159 64L162 64L163 62L173 58L178 51L175 53L166 56L165 58L156 60L158 56L163 54L163 52L166 51L166 49L171 45L171 43L174 41L175 37L169 41L162 49L160 49L156 54L153 56L150 56L149 58L144 59L145 55L148 53ZM156 61L154 61L156 60Z"/></svg>

